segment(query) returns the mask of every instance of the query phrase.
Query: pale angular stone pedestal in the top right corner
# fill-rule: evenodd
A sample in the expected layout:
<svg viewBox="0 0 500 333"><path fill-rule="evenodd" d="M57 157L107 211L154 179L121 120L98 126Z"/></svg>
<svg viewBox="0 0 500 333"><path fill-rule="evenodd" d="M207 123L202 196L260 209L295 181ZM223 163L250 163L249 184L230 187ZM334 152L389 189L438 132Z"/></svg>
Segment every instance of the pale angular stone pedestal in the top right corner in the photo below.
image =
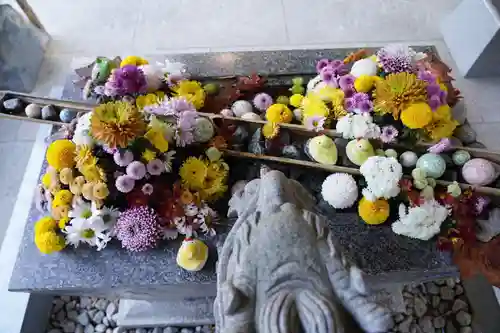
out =
<svg viewBox="0 0 500 333"><path fill-rule="evenodd" d="M466 77L500 75L500 0L463 0L441 23L458 69Z"/></svg>

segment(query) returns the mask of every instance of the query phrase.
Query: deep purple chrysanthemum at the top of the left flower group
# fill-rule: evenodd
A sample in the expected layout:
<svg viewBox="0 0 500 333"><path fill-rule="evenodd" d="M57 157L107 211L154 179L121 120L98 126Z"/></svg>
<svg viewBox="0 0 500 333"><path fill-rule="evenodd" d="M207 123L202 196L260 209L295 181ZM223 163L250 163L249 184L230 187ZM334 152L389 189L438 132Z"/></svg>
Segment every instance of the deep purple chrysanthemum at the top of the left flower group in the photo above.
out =
<svg viewBox="0 0 500 333"><path fill-rule="evenodd" d="M104 85L108 96L123 96L146 92L146 76L137 66L126 65L112 71Z"/></svg>

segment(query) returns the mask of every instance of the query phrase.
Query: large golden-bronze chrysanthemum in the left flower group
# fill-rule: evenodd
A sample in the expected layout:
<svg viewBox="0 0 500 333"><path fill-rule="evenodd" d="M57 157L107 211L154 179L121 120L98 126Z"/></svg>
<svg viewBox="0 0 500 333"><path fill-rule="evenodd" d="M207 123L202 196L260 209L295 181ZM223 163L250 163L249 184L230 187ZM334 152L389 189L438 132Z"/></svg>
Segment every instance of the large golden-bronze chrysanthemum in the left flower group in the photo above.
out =
<svg viewBox="0 0 500 333"><path fill-rule="evenodd" d="M111 148L126 148L146 131L142 114L126 102L99 105L93 111L91 124L92 136Z"/></svg>

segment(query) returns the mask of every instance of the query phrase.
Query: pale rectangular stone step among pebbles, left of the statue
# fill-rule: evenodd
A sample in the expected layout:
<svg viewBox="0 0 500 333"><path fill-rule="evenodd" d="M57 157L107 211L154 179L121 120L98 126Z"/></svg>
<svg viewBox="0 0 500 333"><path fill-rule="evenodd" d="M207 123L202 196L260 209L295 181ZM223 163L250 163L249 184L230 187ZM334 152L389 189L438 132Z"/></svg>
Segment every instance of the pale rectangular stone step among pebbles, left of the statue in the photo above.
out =
<svg viewBox="0 0 500 333"><path fill-rule="evenodd" d="M169 301L121 299L118 326L138 328L213 325L214 300L215 297Z"/></svg>

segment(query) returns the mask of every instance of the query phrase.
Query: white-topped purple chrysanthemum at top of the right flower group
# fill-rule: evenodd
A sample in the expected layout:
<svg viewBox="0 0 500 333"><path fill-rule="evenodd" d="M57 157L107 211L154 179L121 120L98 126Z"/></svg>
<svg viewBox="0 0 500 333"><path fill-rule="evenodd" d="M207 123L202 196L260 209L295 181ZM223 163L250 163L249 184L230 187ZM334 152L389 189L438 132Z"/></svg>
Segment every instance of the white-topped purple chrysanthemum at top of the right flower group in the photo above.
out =
<svg viewBox="0 0 500 333"><path fill-rule="evenodd" d="M388 45L377 52L377 58L386 73L401 73L414 71L416 52L400 44Z"/></svg>

